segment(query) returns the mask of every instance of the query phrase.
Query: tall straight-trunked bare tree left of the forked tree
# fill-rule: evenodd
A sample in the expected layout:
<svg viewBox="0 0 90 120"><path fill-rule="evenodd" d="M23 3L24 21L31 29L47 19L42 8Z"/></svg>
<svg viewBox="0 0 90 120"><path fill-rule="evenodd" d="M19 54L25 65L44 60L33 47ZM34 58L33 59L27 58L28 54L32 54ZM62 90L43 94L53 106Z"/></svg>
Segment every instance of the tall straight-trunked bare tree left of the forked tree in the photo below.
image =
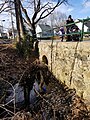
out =
<svg viewBox="0 0 90 120"><path fill-rule="evenodd" d="M20 40L21 36L24 36L24 26L23 26L23 18L20 8L20 0L1 0L0 13L2 12L9 12L16 17L18 37Z"/></svg>

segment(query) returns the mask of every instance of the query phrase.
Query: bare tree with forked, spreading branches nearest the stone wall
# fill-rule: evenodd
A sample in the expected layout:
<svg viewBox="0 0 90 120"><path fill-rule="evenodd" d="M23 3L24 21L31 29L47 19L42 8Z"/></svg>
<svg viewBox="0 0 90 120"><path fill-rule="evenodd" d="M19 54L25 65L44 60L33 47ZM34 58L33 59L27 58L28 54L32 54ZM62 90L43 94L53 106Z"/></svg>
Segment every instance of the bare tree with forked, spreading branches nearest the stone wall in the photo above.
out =
<svg viewBox="0 0 90 120"><path fill-rule="evenodd" d="M53 2L52 0L49 2L44 2L44 0L32 0L28 3L31 4L29 6L30 9L33 9L32 18L28 15L27 9L23 7L21 3L22 10L26 17L24 19L28 22L28 24L31 26L32 29L32 35L35 40L36 38L36 31L35 27L36 24L49 16L58 6L60 6L63 3L67 3L68 0L57 0L57 2Z"/></svg>

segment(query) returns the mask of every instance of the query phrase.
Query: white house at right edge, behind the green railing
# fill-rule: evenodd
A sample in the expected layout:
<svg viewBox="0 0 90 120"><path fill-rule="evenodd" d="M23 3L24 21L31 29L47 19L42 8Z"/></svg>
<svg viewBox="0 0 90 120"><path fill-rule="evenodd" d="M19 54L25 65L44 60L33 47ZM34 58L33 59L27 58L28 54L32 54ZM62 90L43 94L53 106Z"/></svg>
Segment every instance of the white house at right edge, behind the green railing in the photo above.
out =
<svg viewBox="0 0 90 120"><path fill-rule="evenodd" d="M78 20L75 20L75 22L78 22L78 23L76 23L76 25L78 26L78 28L80 30L82 30L82 24L83 24L82 21L78 19ZM88 32L88 31L90 31L90 21L85 21L84 22L84 32Z"/></svg>

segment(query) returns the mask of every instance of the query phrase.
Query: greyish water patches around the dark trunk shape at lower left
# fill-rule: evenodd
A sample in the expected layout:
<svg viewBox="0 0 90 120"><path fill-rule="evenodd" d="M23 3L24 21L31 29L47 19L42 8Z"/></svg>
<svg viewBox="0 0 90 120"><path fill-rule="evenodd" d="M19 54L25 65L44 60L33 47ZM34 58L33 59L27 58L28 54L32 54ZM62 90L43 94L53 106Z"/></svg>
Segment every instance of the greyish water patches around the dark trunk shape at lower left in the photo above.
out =
<svg viewBox="0 0 90 120"><path fill-rule="evenodd" d="M34 83L33 89L30 92L30 103L33 104L37 99L37 94L34 91L34 88L39 92L39 85L37 82ZM14 85L15 89L15 103L22 103L24 102L24 91L23 87L19 85L19 83ZM11 88L9 88L9 91L11 91ZM6 98L6 102L9 102L13 99L13 92L10 93L9 97Z"/></svg>

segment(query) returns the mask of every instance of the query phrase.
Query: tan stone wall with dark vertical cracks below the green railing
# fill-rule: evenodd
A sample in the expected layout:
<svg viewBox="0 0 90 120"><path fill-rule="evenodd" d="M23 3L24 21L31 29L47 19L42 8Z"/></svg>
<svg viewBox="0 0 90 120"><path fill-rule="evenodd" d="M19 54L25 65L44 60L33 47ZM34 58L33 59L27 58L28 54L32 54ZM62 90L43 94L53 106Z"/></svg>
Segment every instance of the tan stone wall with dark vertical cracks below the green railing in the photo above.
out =
<svg viewBox="0 0 90 120"><path fill-rule="evenodd" d="M45 55L58 80L75 88L90 101L90 42L39 42L40 59ZM89 103L90 104L90 103Z"/></svg>

